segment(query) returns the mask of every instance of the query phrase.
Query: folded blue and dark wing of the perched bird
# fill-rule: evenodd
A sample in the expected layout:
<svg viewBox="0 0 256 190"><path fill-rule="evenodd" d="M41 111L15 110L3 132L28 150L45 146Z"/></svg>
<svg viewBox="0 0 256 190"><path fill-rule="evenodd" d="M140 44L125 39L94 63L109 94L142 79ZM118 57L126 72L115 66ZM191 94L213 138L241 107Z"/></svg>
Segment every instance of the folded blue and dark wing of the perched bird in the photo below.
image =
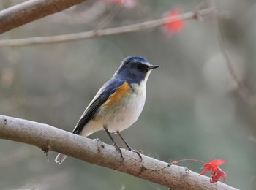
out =
<svg viewBox="0 0 256 190"><path fill-rule="evenodd" d="M80 134L80 132L83 130L83 127L88 123L93 117L94 113L97 112L99 107L102 104L110 104L111 101L108 99L111 95L113 95L117 89L121 86L123 86L125 83L124 80L121 79L110 79L107 83L105 83L102 88L99 89L94 99L91 101L89 106L86 108L86 110L83 112L83 115L80 117L78 123L75 126L75 129L72 133ZM108 100L108 102L106 102Z"/></svg>

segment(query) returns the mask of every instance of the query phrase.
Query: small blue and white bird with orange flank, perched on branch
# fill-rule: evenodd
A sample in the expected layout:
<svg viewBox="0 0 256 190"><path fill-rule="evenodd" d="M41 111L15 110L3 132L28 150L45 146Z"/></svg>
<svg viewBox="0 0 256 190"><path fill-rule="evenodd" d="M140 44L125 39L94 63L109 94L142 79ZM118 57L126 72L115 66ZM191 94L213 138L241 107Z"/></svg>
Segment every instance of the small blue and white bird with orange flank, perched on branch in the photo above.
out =
<svg viewBox="0 0 256 190"><path fill-rule="evenodd" d="M72 133L87 137L99 130L105 130L124 160L121 149L110 133L118 134L128 150L134 151L120 132L135 123L140 116L146 100L148 76L158 67L140 56L124 58L113 77L99 89L86 107ZM66 158L67 155L59 153L55 161L61 164Z"/></svg>

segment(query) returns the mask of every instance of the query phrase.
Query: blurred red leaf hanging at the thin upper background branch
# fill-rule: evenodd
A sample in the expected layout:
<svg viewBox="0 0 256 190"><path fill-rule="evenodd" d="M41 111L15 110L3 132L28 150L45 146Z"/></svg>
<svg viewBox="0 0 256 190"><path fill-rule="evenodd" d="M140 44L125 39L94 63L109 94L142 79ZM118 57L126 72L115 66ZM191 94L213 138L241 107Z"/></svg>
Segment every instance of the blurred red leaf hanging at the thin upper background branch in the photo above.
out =
<svg viewBox="0 0 256 190"><path fill-rule="evenodd" d="M170 10L170 12L167 12L165 14L166 18L169 17L174 17L174 16L178 16L181 15L181 12L179 9L175 8ZM165 34L167 35L167 37L172 37L173 34L176 34L178 32L180 32L182 29L184 28L184 21L183 20L176 20L174 22L170 22L167 23L163 26L163 31L165 32Z"/></svg>

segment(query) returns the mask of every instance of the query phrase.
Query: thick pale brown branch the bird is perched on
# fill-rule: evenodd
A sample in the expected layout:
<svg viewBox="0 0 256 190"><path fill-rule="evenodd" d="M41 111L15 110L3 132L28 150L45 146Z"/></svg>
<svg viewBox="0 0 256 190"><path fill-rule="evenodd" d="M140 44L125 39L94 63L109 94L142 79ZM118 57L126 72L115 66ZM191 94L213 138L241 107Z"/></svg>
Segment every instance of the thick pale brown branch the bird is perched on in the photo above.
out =
<svg viewBox="0 0 256 190"><path fill-rule="evenodd" d="M132 151L122 149L124 161L112 145L65 132L53 126L0 115L0 139L24 142L43 151L56 151L77 159L143 178L170 189L235 189L224 183L210 183L186 167L170 165Z"/></svg>

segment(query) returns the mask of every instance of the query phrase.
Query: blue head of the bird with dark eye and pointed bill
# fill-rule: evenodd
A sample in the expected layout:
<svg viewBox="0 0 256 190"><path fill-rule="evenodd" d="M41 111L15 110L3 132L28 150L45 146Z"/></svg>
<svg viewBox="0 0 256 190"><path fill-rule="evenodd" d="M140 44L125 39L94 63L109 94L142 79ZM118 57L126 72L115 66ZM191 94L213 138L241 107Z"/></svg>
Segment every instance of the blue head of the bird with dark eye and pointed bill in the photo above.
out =
<svg viewBox="0 0 256 190"><path fill-rule="evenodd" d="M114 77L126 80L129 84L145 82L152 69L159 66L151 65L145 58L138 56L129 56L124 58Z"/></svg>

